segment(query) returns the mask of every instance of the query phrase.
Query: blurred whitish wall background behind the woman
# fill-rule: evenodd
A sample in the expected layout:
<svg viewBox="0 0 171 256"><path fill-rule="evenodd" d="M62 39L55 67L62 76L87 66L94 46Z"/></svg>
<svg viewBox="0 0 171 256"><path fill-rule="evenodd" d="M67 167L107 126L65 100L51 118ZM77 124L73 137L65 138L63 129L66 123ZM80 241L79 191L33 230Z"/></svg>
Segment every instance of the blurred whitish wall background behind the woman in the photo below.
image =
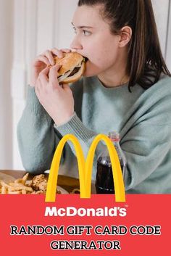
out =
<svg viewBox="0 0 171 256"><path fill-rule="evenodd" d="M162 53L171 70L171 0L152 0ZM17 123L25 107L33 59L70 48L78 0L0 0L0 169L23 170Z"/></svg>

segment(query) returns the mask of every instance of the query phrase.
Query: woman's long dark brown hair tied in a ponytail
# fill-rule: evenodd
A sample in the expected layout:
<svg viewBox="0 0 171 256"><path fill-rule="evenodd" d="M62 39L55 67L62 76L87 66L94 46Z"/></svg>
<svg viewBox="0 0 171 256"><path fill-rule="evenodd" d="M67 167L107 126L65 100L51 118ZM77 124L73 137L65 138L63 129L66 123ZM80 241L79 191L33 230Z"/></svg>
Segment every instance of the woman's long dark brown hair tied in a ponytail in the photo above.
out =
<svg viewBox="0 0 171 256"><path fill-rule="evenodd" d="M103 4L101 16L108 20L113 34L124 26L133 31L128 44L128 88L138 83L144 89L157 83L161 73L171 76L159 45L157 25L151 0L79 0L82 5Z"/></svg>

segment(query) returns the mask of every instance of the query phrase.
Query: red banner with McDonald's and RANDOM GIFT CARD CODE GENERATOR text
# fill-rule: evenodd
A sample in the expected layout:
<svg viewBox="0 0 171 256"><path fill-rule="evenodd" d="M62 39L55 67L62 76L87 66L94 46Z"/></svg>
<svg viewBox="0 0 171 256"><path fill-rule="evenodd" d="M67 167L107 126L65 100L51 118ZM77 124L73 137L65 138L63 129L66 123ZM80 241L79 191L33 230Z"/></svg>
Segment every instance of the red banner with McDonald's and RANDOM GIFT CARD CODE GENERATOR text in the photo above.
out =
<svg viewBox="0 0 171 256"><path fill-rule="evenodd" d="M4 255L170 255L171 195L1 195Z"/></svg>

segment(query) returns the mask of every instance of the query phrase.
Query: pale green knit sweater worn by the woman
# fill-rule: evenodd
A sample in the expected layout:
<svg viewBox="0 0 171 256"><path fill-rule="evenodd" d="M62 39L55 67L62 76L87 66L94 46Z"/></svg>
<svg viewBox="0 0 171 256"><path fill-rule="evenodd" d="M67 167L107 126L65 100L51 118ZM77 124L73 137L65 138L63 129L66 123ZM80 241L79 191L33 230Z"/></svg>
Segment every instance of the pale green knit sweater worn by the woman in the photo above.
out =
<svg viewBox="0 0 171 256"><path fill-rule="evenodd" d="M128 84L105 88L98 78L83 78L71 85L75 114L64 125L53 120L38 102L34 88L28 87L28 99L17 128L22 163L30 173L50 168L59 140L74 134L88 152L98 133L120 133L120 146L127 158L125 189L130 194L171 193L171 78L164 76L148 90ZM104 150L100 143L96 160ZM75 151L68 142L62 155L60 172L78 177Z"/></svg>

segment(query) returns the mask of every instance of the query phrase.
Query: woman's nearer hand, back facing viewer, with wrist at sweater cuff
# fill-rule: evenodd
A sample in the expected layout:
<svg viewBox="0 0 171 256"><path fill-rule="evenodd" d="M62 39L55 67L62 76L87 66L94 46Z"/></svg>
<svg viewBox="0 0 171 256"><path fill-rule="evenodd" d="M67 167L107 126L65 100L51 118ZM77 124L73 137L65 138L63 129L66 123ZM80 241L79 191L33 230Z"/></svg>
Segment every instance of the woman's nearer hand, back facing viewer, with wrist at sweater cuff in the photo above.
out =
<svg viewBox="0 0 171 256"><path fill-rule="evenodd" d="M59 65L44 68L35 83L35 91L39 102L49 113L54 123L62 125L70 120L74 113L74 99L70 86L59 86L57 71Z"/></svg>

